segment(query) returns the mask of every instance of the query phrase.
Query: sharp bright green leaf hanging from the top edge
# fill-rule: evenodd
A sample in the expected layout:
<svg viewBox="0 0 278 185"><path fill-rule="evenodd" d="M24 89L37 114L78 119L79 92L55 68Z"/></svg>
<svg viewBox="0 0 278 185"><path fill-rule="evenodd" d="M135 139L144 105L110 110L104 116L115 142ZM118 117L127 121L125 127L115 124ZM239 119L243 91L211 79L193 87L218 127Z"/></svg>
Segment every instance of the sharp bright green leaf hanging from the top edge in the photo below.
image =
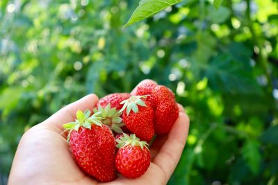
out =
<svg viewBox="0 0 278 185"><path fill-rule="evenodd" d="M147 17L156 14L168 6L173 6L180 1L181 0L141 0L139 6L134 10L124 27L130 26L142 19L146 19Z"/></svg>

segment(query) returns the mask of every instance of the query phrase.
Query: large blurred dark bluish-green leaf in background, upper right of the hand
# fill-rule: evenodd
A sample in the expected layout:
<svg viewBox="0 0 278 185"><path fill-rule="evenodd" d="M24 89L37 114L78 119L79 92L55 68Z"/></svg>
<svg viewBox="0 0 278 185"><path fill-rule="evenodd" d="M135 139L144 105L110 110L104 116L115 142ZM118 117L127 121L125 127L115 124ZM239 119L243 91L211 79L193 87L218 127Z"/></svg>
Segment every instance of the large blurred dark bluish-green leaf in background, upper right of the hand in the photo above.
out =
<svg viewBox="0 0 278 185"><path fill-rule="evenodd" d="M238 61L229 53L220 53L204 66L208 84L230 94L261 94L248 61Z"/></svg>

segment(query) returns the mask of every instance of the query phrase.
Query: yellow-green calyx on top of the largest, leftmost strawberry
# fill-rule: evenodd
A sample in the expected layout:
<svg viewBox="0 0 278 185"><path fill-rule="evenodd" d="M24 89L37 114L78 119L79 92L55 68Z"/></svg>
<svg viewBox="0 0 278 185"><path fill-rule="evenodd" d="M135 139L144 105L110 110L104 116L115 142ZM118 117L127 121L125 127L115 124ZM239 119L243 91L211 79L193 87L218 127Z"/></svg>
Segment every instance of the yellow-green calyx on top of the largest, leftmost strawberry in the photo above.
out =
<svg viewBox="0 0 278 185"><path fill-rule="evenodd" d="M76 132L79 131L79 127L85 127L88 129L91 129L92 124L95 124L97 126L102 127L101 123L101 116L99 116L100 113L95 113L92 116L90 116L91 112L90 110L86 109L84 112L81 110L78 110L76 112L76 119L73 122L65 123L63 127L65 128L65 131L70 131L70 133L67 135L67 141L70 139L70 134L73 130Z"/></svg>

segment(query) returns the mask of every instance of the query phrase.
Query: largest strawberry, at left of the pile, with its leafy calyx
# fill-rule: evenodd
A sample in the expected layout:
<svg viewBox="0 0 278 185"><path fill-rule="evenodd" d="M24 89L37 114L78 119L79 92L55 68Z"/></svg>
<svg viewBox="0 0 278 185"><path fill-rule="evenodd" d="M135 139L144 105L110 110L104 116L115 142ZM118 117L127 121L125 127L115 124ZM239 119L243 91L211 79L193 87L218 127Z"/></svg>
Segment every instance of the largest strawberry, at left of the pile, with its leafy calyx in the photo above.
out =
<svg viewBox="0 0 278 185"><path fill-rule="evenodd" d="M100 182L110 182L116 178L115 139L98 114L90 116L89 110L79 110L75 122L63 127L70 130L67 141L79 167Z"/></svg>

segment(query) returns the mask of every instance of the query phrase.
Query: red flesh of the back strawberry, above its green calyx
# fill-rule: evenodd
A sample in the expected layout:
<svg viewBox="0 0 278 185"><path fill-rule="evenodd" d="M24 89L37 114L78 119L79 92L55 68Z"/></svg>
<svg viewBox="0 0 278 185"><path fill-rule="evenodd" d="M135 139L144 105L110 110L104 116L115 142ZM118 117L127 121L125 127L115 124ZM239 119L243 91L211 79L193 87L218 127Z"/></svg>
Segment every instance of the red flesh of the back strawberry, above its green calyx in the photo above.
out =
<svg viewBox="0 0 278 185"><path fill-rule="evenodd" d="M104 98L101 98L99 100L99 103L96 107L106 107L110 103L111 108L116 107L117 110L122 109L122 105L120 104L123 100L126 100L130 98L130 94L128 93L115 93L115 94L109 94L107 96L104 96Z"/></svg>

